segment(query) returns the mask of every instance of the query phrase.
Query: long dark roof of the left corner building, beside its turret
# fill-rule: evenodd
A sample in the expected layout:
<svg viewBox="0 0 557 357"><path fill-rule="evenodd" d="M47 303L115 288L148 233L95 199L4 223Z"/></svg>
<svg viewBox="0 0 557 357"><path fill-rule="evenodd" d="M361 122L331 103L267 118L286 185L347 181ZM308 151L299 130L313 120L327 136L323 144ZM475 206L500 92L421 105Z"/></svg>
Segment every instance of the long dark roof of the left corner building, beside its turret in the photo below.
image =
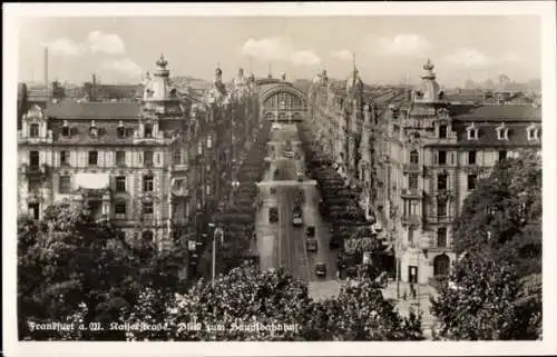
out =
<svg viewBox="0 0 557 357"><path fill-rule="evenodd" d="M62 100L49 106L46 117L58 119L137 119L141 111L140 102L78 102Z"/></svg>

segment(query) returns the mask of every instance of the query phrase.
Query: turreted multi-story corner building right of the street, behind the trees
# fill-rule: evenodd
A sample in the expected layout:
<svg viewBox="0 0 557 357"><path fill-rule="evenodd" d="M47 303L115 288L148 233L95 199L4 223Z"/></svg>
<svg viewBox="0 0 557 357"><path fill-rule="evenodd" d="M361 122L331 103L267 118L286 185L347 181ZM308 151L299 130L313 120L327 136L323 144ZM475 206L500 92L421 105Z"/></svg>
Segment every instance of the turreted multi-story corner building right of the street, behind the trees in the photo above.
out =
<svg viewBox="0 0 557 357"><path fill-rule="evenodd" d="M520 96L451 103L433 65L408 100L374 126L375 210L395 237L400 278L427 284L455 260L451 222L465 198L498 161L540 150L541 111Z"/></svg>

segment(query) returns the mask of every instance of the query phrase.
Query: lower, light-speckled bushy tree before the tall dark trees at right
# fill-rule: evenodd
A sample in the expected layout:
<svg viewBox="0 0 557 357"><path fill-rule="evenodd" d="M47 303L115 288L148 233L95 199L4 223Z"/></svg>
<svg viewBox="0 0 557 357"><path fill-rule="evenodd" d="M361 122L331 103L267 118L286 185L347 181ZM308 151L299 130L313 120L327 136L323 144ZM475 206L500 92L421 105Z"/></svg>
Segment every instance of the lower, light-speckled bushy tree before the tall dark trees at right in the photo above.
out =
<svg viewBox="0 0 557 357"><path fill-rule="evenodd" d="M450 284L440 287L432 313L440 337L457 340L514 339L524 330L514 299L519 291L517 270L485 256L468 256L455 267Z"/></svg>

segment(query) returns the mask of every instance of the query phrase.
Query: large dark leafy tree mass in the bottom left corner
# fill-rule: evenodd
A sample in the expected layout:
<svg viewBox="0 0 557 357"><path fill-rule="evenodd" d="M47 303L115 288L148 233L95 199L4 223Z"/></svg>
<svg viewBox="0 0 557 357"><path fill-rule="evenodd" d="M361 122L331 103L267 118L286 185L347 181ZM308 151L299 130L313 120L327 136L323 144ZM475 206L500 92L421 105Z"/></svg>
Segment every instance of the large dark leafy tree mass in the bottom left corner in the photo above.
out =
<svg viewBox="0 0 557 357"><path fill-rule="evenodd" d="M130 246L84 206L61 201L41 221L18 226L18 319L21 339L124 339L110 330L146 286L162 292L180 286L184 251L159 254L152 244ZM173 290L175 291L175 290ZM160 299L164 299L159 295ZM32 330L29 323L80 323L86 329ZM91 325L89 325L91 324ZM91 330L101 324L105 330Z"/></svg>

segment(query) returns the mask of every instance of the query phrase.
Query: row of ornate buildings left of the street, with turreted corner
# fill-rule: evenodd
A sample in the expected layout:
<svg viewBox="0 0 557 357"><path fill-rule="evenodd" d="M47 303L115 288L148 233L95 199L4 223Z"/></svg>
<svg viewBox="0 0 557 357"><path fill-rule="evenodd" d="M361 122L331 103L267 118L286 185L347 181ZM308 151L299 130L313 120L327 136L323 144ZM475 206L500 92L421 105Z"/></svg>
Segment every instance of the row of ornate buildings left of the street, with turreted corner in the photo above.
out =
<svg viewBox="0 0 557 357"><path fill-rule="evenodd" d="M258 119L253 78L229 90L217 70L202 102L180 98L162 56L136 102L61 100L31 106L18 130L20 214L86 204L126 238L170 248L201 235L201 214L226 196L246 132ZM243 80L243 82L242 82ZM199 229L197 229L199 228Z"/></svg>

